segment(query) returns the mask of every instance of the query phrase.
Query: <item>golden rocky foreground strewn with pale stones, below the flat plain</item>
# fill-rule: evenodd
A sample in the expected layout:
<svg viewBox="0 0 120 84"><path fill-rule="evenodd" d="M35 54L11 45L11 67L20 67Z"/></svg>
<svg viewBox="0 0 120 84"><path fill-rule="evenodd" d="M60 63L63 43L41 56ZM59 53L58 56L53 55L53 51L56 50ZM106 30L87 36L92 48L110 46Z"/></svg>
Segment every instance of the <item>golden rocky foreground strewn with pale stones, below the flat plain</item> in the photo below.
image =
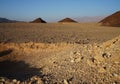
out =
<svg viewBox="0 0 120 84"><path fill-rule="evenodd" d="M105 32L115 33L110 31ZM110 38L90 43L4 42L1 39L0 83L120 84L120 36Z"/></svg>

